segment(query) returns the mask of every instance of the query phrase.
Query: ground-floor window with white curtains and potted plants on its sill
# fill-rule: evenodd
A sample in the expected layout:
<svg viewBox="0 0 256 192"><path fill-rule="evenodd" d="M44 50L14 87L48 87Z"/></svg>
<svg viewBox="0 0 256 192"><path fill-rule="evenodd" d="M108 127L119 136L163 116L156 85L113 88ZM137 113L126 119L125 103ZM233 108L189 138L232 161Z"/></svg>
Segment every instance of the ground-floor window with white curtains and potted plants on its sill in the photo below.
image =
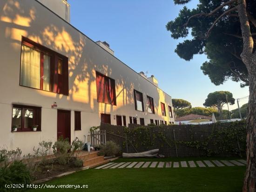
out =
<svg viewBox="0 0 256 192"><path fill-rule="evenodd" d="M41 107L13 105L12 127L17 131L33 131L33 126L41 130Z"/></svg>

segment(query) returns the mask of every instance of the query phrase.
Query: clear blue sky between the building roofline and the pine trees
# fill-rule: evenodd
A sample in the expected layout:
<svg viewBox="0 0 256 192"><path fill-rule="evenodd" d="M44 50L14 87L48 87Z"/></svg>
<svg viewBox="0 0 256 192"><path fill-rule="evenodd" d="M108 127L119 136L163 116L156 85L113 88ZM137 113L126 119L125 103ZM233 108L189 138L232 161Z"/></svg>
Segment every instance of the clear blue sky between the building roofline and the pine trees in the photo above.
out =
<svg viewBox="0 0 256 192"><path fill-rule="evenodd" d="M221 86L211 83L200 66L206 55L185 61L174 53L178 42L166 30L183 6L173 0L69 0L71 24L94 41L107 41L115 56L137 72L154 74L159 87L172 98L186 99L192 106L203 106L207 95L230 91L233 97L249 95L249 88L231 80ZM193 8L198 0L187 7ZM241 106L247 100L241 100ZM224 108L227 108L224 106ZM237 105L230 106L231 109Z"/></svg>

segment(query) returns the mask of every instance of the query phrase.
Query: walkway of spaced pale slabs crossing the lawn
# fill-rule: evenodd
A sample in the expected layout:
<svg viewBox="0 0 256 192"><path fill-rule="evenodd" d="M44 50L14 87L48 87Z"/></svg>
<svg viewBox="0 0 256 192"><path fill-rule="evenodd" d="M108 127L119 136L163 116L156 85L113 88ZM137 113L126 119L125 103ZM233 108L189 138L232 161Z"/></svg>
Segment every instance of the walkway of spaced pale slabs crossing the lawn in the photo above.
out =
<svg viewBox="0 0 256 192"><path fill-rule="evenodd" d="M107 163L95 169L115 169L115 168L178 168L178 167L222 167L222 166L246 166L243 159L237 160L204 160L204 161L180 161L180 162L120 162Z"/></svg>

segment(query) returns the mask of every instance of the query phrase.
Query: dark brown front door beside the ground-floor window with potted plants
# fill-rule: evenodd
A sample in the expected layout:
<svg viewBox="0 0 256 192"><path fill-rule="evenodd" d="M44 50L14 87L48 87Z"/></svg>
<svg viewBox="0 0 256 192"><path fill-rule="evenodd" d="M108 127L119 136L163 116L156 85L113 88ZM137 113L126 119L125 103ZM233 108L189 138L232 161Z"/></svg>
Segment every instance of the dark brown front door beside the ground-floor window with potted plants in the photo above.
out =
<svg viewBox="0 0 256 192"><path fill-rule="evenodd" d="M64 139L68 138L70 140L71 132L71 120L70 111L59 110L57 114L57 139L63 136Z"/></svg>

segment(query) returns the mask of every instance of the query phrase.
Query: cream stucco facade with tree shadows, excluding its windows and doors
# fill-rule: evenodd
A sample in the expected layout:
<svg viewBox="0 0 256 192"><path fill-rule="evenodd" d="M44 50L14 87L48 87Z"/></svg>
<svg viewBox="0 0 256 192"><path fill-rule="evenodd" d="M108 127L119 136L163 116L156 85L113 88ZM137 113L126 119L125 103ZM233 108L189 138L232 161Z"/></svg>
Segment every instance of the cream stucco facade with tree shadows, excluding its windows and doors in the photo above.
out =
<svg viewBox="0 0 256 192"><path fill-rule="evenodd" d="M55 141L57 109L71 111L71 140L84 140L91 126L100 125L101 113L110 114L114 125L116 115L126 116L127 125L129 116L136 115L138 124L139 118L145 119L145 125L150 119L174 122L168 115L172 102L167 93L58 15L36 0L0 1L0 146L20 147L26 154L42 140ZM20 86L22 36L68 58L68 96ZM96 71L115 79L116 106L97 102ZM144 112L135 110L134 89L143 93ZM154 99L155 114L147 113L147 95ZM54 102L57 109L51 107ZM166 116L162 116L161 102ZM11 132L13 104L40 106L41 131ZM74 131L74 111L81 111L81 131Z"/></svg>

